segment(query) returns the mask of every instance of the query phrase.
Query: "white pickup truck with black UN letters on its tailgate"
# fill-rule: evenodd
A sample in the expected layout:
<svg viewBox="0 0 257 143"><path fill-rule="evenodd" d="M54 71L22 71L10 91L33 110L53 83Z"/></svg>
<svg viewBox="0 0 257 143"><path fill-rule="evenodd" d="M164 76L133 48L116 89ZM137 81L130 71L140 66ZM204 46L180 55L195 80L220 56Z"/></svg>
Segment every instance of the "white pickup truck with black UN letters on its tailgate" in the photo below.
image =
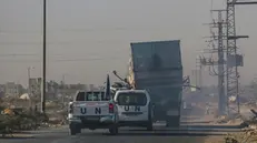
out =
<svg viewBox="0 0 257 143"><path fill-rule="evenodd" d="M103 91L78 91L69 103L70 134L81 133L81 129L109 129L118 133L118 109L112 100L105 99Z"/></svg>

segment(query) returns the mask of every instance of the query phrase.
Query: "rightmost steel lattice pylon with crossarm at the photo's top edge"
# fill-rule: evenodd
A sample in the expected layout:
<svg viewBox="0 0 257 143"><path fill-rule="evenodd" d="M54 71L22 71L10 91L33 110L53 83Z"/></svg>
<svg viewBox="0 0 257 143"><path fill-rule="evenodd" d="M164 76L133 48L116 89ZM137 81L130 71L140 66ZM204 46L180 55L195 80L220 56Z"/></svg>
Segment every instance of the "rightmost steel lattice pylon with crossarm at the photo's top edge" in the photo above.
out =
<svg viewBox="0 0 257 143"><path fill-rule="evenodd" d="M240 114L238 67L243 67L243 55L238 54L237 39L248 38L248 35L236 34L236 4L257 4L257 1L227 0L227 96L236 96L237 113Z"/></svg>

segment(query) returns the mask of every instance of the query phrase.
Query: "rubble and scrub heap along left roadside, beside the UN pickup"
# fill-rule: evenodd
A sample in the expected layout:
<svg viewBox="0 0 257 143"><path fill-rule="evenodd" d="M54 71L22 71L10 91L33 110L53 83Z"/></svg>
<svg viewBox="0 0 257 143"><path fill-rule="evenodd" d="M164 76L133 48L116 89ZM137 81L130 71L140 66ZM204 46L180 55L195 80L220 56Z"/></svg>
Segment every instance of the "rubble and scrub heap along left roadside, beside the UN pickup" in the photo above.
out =
<svg viewBox="0 0 257 143"><path fill-rule="evenodd" d="M42 127L57 127L67 123L68 110L66 104L48 101L46 114L28 106L30 101L20 99L0 99L0 135L12 134L24 130L38 130Z"/></svg>

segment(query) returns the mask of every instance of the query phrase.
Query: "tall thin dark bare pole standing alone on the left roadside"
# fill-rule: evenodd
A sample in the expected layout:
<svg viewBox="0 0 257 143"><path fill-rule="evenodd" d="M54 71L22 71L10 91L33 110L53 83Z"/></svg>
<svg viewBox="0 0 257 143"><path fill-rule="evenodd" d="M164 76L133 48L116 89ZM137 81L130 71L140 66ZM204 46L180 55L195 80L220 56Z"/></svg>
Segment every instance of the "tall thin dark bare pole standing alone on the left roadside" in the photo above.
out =
<svg viewBox="0 0 257 143"><path fill-rule="evenodd" d="M43 0L43 45L42 45L42 89L41 89L41 112L46 111L46 79L47 79L47 0Z"/></svg>

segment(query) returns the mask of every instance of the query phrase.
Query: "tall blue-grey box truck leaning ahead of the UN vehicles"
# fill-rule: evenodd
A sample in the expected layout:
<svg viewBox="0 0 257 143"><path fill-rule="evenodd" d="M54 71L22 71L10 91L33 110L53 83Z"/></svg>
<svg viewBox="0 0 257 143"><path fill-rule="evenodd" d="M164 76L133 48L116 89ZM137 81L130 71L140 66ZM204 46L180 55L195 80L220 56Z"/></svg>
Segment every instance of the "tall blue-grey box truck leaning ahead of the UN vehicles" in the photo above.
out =
<svg viewBox="0 0 257 143"><path fill-rule="evenodd" d="M182 63L180 41L130 43L131 59L126 81L132 89L145 89L155 103L155 121L180 125Z"/></svg>

